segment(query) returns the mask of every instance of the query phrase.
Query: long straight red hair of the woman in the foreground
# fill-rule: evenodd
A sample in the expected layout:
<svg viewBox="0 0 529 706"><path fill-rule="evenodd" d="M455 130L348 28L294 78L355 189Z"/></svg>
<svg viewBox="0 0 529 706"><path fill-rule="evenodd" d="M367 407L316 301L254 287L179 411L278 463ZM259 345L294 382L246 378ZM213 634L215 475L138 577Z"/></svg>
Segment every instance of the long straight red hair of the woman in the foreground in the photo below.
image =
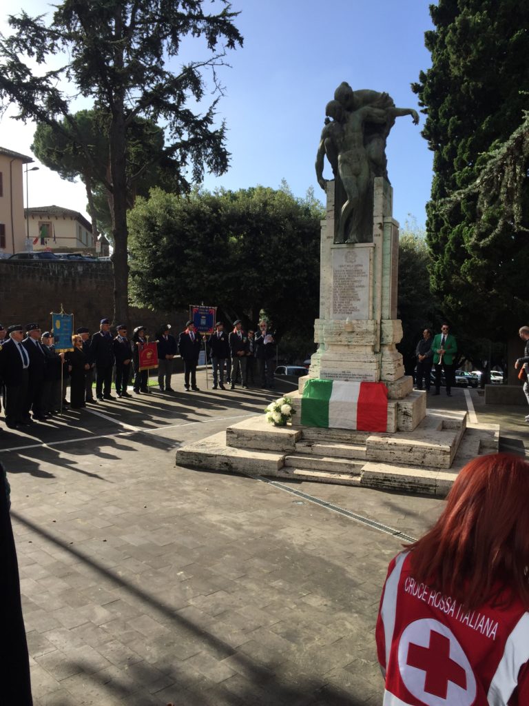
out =
<svg viewBox="0 0 529 706"><path fill-rule="evenodd" d="M529 609L529 464L478 456L458 474L446 508L411 546L411 570L468 609L511 590Z"/></svg>

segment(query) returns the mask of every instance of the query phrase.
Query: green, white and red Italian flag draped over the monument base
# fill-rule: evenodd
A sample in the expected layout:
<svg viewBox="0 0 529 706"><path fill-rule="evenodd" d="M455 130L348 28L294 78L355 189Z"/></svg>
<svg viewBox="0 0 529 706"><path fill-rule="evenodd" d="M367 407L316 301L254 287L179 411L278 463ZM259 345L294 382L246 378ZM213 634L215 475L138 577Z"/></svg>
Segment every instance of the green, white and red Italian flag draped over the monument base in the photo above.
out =
<svg viewBox="0 0 529 706"><path fill-rule="evenodd" d="M310 378L303 388L300 421L305 426L386 431L387 387Z"/></svg>

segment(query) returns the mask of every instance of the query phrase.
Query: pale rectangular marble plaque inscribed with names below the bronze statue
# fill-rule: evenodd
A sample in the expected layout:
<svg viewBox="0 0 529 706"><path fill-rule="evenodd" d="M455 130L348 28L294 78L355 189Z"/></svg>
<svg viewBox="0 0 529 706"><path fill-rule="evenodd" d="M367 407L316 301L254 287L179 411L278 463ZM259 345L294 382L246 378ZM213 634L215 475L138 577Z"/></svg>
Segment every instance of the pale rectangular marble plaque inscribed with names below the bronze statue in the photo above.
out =
<svg viewBox="0 0 529 706"><path fill-rule="evenodd" d="M332 249L331 318L370 318L370 248Z"/></svg>

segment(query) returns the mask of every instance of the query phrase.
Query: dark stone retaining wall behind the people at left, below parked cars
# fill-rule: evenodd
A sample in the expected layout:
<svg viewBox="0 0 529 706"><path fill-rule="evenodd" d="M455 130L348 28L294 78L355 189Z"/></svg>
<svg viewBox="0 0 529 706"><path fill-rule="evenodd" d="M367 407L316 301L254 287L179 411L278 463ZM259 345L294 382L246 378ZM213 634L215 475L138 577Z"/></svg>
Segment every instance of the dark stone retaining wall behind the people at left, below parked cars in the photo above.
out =
<svg viewBox="0 0 529 706"><path fill-rule="evenodd" d="M73 313L74 328L99 329L99 321L112 320L114 304L112 263L0 260L0 322L25 325L37 321L42 330L51 327L51 311ZM183 330L186 311L150 311L130 307L130 330L145 325L154 335L161 323L174 332ZM116 323L122 323L116 321Z"/></svg>

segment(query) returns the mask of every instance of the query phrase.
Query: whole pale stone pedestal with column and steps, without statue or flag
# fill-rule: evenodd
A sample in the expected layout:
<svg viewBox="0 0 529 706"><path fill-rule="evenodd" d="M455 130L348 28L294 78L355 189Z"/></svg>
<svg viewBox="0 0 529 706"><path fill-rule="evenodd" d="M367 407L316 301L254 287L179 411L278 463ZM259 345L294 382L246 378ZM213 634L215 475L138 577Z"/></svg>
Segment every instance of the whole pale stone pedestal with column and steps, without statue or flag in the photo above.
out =
<svg viewBox="0 0 529 706"><path fill-rule="evenodd" d="M499 426L467 424L466 412L427 412L426 393L413 390L396 344L399 224L392 189L375 179L372 242L334 243L334 181L327 182L322 221L320 317L308 376L292 395L293 424L265 414L245 419L176 452L176 465L283 479L401 489L444 496L471 458L498 450ZM300 424L309 378L382 381L388 389L385 433L320 429Z"/></svg>

